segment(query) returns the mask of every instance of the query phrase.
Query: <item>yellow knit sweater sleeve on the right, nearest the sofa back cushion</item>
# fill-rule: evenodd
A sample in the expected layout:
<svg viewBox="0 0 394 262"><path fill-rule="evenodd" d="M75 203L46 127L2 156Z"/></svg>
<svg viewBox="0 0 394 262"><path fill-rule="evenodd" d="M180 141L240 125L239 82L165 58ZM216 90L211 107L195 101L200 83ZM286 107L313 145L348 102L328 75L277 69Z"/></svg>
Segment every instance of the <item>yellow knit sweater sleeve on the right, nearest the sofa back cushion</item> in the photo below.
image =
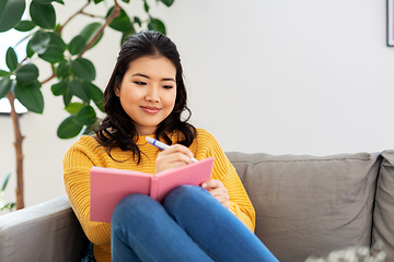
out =
<svg viewBox="0 0 394 262"><path fill-rule="evenodd" d="M254 231L255 210L235 168L213 135L207 131L199 133L199 135L200 134L202 140L207 142L207 147L202 146L206 152L199 153L205 155L205 157L212 156L215 158L211 179L218 179L223 183L229 191L230 211Z"/></svg>

